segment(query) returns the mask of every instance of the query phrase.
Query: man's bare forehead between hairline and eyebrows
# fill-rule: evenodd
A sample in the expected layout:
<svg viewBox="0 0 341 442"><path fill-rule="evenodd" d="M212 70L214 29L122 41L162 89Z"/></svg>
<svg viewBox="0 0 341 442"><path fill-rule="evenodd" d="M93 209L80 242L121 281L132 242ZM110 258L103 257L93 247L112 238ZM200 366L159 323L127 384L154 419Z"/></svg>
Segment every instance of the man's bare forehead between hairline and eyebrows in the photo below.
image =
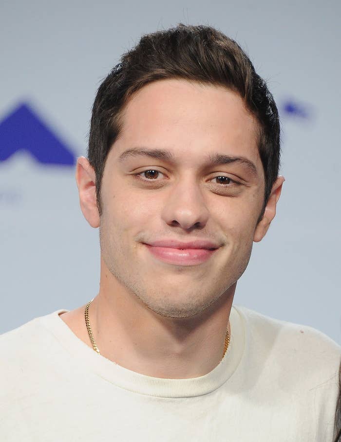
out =
<svg viewBox="0 0 341 442"><path fill-rule="evenodd" d="M243 156L261 166L258 124L240 96L224 87L187 80L155 81L138 90L122 113L113 153L164 149L194 165L211 154Z"/></svg>

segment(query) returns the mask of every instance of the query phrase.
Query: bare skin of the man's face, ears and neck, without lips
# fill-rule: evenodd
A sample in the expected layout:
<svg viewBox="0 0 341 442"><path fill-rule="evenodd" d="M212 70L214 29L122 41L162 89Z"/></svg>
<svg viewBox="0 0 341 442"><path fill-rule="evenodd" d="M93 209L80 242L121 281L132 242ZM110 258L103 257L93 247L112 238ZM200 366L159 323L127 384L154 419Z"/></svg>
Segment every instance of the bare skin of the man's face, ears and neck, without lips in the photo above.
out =
<svg viewBox="0 0 341 442"><path fill-rule="evenodd" d="M275 182L257 223L265 182L256 134L257 122L236 93L162 80L140 89L125 108L105 164L101 216L94 170L78 159L80 206L100 229L100 290L89 315L103 356L164 378L200 376L219 363L236 282L253 241L275 216L284 182ZM173 159L120 161L132 148L167 151ZM245 161L209 166L214 154L242 157L254 170ZM203 263L174 265L144 244L161 239L210 240L218 249ZM91 346L84 307L61 318Z"/></svg>

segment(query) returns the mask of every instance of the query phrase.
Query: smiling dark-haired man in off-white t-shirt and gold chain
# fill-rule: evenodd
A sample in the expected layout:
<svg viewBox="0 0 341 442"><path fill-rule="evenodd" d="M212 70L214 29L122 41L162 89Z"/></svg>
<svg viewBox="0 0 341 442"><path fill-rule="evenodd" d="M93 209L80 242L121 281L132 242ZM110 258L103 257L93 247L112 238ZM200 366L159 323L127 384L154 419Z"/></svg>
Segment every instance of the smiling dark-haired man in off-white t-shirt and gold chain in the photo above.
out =
<svg viewBox="0 0 341 442"><path fill-rule="evenodd" d="M279 160L276 105L233 40L180 24L123 55L76 167L99 293L1 337L2 440L332 440L340 347L232 305Z"/></svg>

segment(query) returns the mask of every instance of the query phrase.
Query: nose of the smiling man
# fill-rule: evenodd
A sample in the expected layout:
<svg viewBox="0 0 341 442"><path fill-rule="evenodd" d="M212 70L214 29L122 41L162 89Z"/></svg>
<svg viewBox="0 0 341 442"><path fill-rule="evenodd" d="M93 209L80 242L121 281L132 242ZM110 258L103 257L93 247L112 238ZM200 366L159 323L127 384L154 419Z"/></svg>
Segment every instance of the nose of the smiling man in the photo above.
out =
<svg viewBox="0 0 341 442"><path fill-rule="evenodd" d="M162 219L168 225L185 230L203 228L208 217L202 189L193 177L177 182L170 189L162 211Z"/></svg>

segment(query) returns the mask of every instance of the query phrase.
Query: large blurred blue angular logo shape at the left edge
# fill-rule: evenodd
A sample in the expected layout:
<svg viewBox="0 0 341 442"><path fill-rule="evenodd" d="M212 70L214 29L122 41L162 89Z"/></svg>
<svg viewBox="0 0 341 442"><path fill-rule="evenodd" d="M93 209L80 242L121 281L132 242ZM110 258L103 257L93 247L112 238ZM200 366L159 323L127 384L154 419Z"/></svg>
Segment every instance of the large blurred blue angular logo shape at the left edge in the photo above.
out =
<svg viewBox="0 0 341 442"><path fill-rule="evenodd" d="M0 122L0 161L18 151L29 152L42 164L73 166L76 162L72 150L25 103Z"/></svg>

